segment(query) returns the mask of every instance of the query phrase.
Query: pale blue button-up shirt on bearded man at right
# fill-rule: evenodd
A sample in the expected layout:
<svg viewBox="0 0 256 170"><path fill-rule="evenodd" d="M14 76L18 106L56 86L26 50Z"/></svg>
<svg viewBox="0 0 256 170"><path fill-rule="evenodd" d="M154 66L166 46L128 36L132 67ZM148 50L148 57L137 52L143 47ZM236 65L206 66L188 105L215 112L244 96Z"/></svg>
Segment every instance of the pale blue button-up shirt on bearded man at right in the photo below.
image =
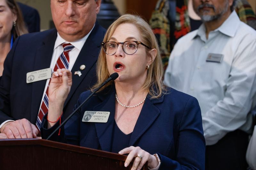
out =
<svg viewBox="0 0 256 170"><path fill-rule="evenodd" d="M206 62L209 53L222 54L221 63ZM174 46L164 84L197 98L207 145L228 132L248 131L256 91L256 31L233 11L216 30L205 26L188 33Z"/></svg>

